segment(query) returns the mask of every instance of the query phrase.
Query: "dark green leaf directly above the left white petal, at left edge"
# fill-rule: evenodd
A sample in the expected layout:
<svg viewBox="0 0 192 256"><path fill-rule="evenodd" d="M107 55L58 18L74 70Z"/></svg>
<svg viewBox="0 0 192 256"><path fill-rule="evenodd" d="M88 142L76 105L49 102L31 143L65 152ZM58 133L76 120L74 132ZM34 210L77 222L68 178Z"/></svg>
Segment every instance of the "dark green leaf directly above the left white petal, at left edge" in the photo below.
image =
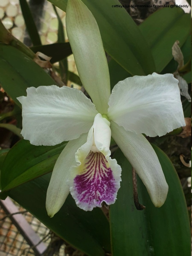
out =
<svg viewBox="0 0 192 256"><path fill-rule="evenodd" d="M16 98L26 96L28 87L55 84L38 64L10 45L0 44L0 70L1 86L20 107Z"/></svg>

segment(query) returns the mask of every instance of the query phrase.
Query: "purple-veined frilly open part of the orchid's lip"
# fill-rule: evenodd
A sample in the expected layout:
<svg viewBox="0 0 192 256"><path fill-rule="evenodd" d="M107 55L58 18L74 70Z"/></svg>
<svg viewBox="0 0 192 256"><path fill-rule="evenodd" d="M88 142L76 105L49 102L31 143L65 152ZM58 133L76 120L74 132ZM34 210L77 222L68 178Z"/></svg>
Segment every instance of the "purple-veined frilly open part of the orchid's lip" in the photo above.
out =
<svg viewBox="0 0 192 256"><path fill-rule="evenodd" d="M83 164L83 166L82 166ZM101 152L87 155L79 166L80 173L73 180L73 197L77 205L84 210L101 207L115 202L117 187L109 162Z"/></svg>

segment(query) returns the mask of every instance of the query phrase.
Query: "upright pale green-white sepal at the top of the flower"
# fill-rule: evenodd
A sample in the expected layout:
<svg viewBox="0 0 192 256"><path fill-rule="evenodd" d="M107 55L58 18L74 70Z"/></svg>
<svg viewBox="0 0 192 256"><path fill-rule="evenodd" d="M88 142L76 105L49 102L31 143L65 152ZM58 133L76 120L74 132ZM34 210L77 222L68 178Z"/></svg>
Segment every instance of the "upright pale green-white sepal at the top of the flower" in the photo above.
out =
<svg viewBox="0 0 192 256"><path fill-rule="evenodd" d="M110 77L97 22L80 0L68 0L66 29L81 82L96 109L107 113Z"/></svg>

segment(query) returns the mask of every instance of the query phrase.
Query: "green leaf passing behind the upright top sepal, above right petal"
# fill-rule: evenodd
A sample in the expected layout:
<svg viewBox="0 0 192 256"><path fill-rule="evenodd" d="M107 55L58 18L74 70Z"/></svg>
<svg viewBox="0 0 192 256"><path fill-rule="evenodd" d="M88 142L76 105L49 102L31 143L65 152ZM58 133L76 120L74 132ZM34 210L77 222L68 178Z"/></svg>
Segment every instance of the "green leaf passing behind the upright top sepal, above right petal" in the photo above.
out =
<svg viewBox="0 0 192 256"><path fill-rule="evenodd" d="M67 0L49 0L66 11ZM118 0L83 0L94 15L105 51L132 75L155 71L151 50L124 8L113 8Z"/></svg>

